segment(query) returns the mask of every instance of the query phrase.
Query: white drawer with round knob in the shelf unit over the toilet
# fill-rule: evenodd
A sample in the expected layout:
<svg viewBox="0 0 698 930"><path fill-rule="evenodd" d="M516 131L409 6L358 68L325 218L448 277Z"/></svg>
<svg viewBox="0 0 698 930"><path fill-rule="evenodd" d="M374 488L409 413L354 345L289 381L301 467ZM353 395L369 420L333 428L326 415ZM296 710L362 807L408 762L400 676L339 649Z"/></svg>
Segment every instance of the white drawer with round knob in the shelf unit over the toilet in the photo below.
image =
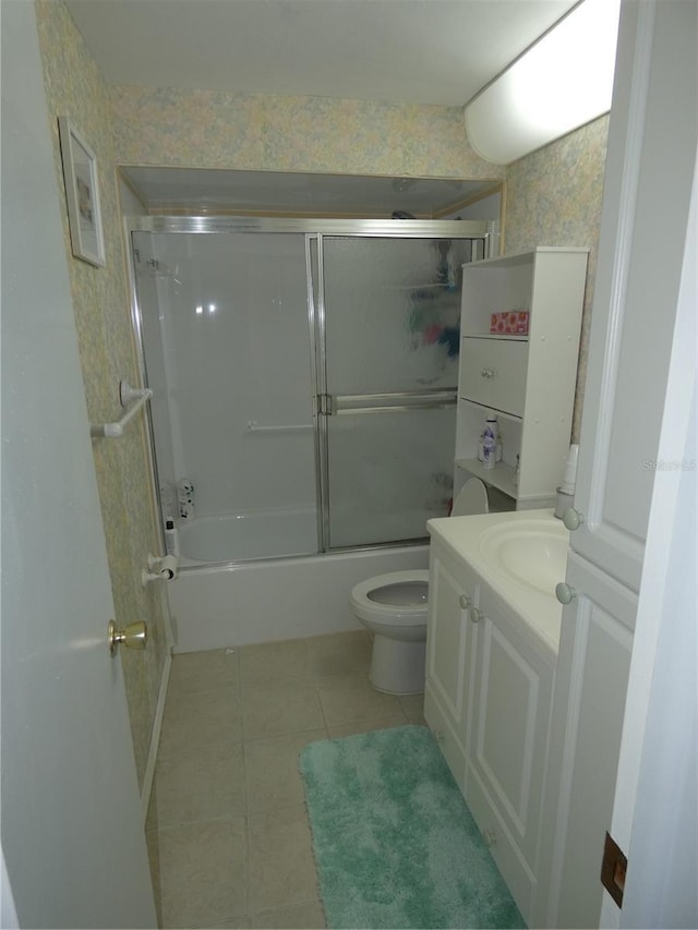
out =
<svg viewBox="0 0 698 930"><path fill-rule="evenodd" d="M466 337L460 348L460 396L522 416L527 362L528 342Z"/></svg>

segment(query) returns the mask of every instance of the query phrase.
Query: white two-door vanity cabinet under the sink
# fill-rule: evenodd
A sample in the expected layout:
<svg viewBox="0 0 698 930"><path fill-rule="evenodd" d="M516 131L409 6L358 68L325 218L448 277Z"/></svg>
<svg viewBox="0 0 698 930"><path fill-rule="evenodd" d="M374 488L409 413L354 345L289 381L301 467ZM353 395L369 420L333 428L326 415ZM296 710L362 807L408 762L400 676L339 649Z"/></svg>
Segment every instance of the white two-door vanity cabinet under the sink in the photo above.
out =
<svg viewBox="0 0 698 930"><path fill-rule="evenodd" d="M547 597L553 632L541 635L490 583L472 541L480 523L493 519L429 523L424 715L530 923L562 608ZM474 528L464 545L462 520Z"/></svg>

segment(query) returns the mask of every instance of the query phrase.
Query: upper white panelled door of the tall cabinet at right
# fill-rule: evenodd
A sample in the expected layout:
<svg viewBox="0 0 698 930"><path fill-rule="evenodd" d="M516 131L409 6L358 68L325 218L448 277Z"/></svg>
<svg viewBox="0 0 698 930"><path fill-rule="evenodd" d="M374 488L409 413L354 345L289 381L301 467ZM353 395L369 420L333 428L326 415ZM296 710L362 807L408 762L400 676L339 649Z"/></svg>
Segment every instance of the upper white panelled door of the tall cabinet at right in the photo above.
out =
<svg viewBox="0 0 698 930"><path fill-rule="evenodd" d="M609 130L571 545L634 591L672 468L658 449L696 153L691 8L624 4Z"/></svg>

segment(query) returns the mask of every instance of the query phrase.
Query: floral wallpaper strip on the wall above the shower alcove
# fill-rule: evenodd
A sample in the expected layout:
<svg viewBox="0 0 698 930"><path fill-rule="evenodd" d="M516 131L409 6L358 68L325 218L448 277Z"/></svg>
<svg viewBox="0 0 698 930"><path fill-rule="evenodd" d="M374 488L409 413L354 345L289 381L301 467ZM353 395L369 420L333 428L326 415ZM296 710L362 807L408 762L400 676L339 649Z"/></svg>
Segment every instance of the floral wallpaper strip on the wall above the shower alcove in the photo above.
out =
<svg viewBox="0 0 698 930"><path fill-rule="evenodd" d="M123 165L502 179L477 156L462 108L118 86Z"/></svg>

